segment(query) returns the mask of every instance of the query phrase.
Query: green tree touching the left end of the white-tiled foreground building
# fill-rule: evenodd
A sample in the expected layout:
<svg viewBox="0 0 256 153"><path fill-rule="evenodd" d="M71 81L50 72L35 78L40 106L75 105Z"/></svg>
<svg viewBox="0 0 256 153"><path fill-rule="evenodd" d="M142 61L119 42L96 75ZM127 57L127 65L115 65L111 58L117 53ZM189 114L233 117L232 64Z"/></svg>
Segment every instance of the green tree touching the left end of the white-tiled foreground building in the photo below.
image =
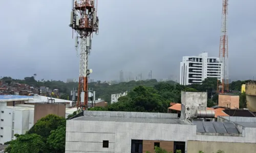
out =
<svg viewBox="0 0 256 153"><path fill-rule="evenodd" d="M49 149L55 153L65 152L66 143L66 125L60 125L56 130L52 130L47 139Z"/></svg>

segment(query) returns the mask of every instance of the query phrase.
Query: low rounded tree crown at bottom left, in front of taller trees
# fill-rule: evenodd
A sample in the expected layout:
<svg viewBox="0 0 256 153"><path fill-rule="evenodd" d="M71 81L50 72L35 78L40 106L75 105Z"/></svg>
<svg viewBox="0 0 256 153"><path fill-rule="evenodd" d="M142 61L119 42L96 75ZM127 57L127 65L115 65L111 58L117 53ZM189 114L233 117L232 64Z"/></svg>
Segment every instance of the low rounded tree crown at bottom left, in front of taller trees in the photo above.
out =
<svg viewBox="0 0 256 153"><path fill-rule="evenodd" d="M26 135L14 135L15 140L9 141L5 144L9 144L5 149L8 153L44 153L48 152L44 139L36 134Z"/></svg>

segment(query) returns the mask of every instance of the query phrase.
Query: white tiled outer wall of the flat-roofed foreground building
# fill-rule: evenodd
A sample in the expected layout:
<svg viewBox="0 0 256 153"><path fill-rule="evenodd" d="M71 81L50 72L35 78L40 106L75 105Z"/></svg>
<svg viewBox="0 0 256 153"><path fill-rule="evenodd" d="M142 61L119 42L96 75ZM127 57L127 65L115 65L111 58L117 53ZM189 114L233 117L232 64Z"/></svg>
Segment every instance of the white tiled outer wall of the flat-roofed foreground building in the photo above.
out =
<svg viewBox="0 0 256 153"><path fill-rule="evenodd" d="M245 137L197 135L196 125L68 120L66 153L131 152L131 140L217 141L256 143L256 128L245 128ZM109 140L109 148L102 141Z"/></svg>

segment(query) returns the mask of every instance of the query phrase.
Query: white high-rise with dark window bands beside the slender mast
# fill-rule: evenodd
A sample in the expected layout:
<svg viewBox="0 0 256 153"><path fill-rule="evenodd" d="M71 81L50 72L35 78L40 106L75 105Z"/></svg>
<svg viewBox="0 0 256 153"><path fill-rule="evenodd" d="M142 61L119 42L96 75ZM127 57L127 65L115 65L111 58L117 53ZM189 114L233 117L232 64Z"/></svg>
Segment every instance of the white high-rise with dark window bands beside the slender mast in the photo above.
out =
<svg viewBox="0 0 256 153"><path fill-rule="evenodd" d="M220 59L208 57L208 53L184 56L180 62L180 84L201 84L206 78L222 80L222 71Z"/></svg>

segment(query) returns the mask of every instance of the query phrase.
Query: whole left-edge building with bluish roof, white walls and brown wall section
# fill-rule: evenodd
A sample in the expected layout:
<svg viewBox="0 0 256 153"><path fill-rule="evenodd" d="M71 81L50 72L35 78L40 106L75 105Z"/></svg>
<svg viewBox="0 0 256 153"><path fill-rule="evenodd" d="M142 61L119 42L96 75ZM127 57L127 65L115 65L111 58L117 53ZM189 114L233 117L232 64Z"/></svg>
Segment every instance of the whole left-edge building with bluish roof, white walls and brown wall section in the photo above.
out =
<svg viewBox="0 0 256 153"><path fill-rule="evenodd" d="M44 96L34 98L33 96L0 95L0 145L15 139L14 134L25 134L40 117L49 113L57 113L56 115L59 116L62 113L61 116L65 117L76 111L76 108L65 108L65 105L60 104L63 103L60 100L59 103L55 101L53 105L61 105L62 111L58 111L59 109L52 104L40 104L46 101L47 98L45 99ZM37 105L40 106L37 107ZM47 108L49 106L50 108ZM65 109L68 110L66 113Z"/></svg>

